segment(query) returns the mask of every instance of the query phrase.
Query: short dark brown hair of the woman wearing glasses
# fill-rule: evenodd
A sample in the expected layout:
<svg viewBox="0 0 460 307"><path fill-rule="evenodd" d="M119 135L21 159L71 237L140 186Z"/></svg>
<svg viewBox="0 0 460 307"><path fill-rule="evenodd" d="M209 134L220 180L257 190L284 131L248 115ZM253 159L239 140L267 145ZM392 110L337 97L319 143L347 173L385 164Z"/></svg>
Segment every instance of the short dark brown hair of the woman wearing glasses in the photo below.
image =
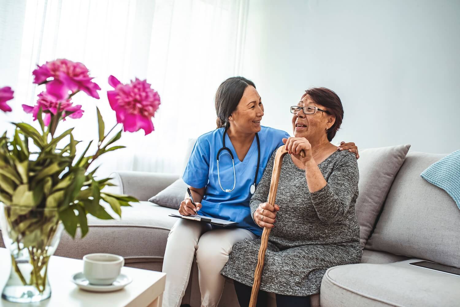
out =
<svg viewBox="0 0 460 307"><path fill-rule="evenodd" d="M310 95L311 99L313 99L316 104L322 105L328 110L329 114L335 116L334 125L328 129L328 140L329 142L332 141L344 118L344 108L339 96L337 96L334 91L331 91L326 87L309 88L305 91L305 94L302 96L302 98L304 98L305 95Z"/></svg>

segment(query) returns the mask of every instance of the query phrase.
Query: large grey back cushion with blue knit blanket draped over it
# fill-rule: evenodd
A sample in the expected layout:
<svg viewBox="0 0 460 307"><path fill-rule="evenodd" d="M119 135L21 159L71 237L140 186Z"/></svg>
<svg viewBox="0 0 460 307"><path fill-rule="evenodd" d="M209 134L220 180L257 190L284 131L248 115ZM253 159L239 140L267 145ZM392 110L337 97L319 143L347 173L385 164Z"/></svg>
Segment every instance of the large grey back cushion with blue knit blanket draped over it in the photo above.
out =
<svg viewBox="0 0 460 307"><path fill-rule="evenodd" d="M420 173L445 155L409 153L366 249L460 267L460 210Z"/></svg>

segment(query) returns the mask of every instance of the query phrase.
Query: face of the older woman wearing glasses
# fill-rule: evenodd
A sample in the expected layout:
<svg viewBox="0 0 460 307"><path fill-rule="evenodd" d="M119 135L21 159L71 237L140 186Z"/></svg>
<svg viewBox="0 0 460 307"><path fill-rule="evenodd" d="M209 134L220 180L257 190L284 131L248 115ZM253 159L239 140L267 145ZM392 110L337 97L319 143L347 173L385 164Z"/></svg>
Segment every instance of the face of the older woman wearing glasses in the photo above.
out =
<svg viewBox="0 0 460 307"><path fill-rule="evenodd" d="M327 111L327 108L316 104L308 94L302 97L297 106L311 106ZM292 117L294 136L296 138L304 137L310 143L319 141L324 137L327 139L327 128L332 127L334 121L334 116L326 112L317 110L314 114L305 114L303 110L300 110L297 114L293 114Z"/></svg>

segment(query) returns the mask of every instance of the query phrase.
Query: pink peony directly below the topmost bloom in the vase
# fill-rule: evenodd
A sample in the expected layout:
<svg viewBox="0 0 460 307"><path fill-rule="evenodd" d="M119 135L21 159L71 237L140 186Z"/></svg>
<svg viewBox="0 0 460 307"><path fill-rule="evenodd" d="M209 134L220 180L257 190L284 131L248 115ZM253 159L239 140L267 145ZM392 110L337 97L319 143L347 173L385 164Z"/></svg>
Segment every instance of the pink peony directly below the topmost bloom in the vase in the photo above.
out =
<svg viewBox="0 0 460 307"><path fill-rule="evenodd" d="M70 118L80 118L83 116L84 110L81 110L81 105L72 105L70 99L67 100L58 100L54 95L51 95L47 92L41 92L38 94L37 104L30 106L23 104L23 110L26 113L32 113L34 116L34 121L37 120L38 111L40 110L45 114L43 123L48 126L51 121L51 114L56 115L58 112L63 112L63 120L65 117L69 116Z"/></svg>

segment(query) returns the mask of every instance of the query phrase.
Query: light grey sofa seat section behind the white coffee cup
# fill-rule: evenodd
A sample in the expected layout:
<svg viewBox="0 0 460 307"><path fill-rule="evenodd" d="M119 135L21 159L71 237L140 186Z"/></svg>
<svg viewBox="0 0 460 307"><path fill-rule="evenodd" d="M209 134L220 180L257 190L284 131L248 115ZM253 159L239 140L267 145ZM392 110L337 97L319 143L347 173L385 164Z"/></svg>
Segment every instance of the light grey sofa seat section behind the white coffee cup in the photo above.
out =
<svg viewBox="0 0 460 307"><path fill-rule="evenodd" d="M88 215L86 237L74 240L64 232L55 255L81 259L90 253L111 253L125 257L126 263L137 263L137 267L161 271L169 230L177 221L168 214L176 210L149 202L121 209L121 220Z"/></svg>

